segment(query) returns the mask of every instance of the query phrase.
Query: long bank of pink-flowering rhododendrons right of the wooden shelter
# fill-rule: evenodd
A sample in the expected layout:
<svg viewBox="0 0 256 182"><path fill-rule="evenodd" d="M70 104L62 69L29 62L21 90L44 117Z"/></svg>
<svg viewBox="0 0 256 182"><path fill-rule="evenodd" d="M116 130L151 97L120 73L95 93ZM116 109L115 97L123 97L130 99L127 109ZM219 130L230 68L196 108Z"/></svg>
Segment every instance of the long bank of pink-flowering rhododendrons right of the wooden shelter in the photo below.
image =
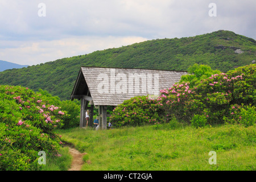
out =
<svg viewBox="0 0 256 182"><path fill-rule="evenodd" d="M190 86L189 81L179 82L171 88L160 90L158 98L143 96L140 97L141 101L138 101L139 97L131 98L115 108L110 121L113 125L123 126L138 125L142 122L163 123L169 122L172 118L191 123L191 121L197 122L200 118L204 121L201 125L225 122L242 123L244 126L254 125L255 69L255 64L251 64L227 73L214 71L211 76L203 80L196 81L196 77L191 77L193 87ZM203 70L202 66L200 70ZM206 75L209 75L210 69L205 70ZM201 75L199 78L205 77ZM189 76L186 77L188 78ZM234 112L232 109L237 110ZM250 114L250 121L248 121L249 117L247 119L245 117L246 112Z"/></svg>

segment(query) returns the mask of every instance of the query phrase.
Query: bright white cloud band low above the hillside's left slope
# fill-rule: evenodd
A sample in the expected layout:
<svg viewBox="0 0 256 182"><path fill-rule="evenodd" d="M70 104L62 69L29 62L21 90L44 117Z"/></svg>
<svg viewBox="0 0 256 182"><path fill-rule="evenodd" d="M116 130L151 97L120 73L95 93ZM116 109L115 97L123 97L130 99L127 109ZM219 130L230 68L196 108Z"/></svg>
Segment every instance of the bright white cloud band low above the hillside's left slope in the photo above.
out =
<svg viewBox="0 0 256 182"><path fill-rule="evenodd" d="M136 36L83 36L60 40L41 40L39 42L13 41L7 43L16 45L16 47L0 48L0 57L1 60L11 61L17 64L36 65L47 61L61 59L63 57L85 55L86 53L91 53L97 50L127 46L145 40L147 39Z"/></svg>

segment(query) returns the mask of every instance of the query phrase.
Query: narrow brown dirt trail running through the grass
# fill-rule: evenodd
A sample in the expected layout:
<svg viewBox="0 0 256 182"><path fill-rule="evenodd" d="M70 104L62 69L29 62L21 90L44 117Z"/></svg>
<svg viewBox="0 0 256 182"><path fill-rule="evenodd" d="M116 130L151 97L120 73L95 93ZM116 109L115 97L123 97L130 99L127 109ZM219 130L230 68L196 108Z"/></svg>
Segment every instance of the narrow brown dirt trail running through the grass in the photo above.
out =
<svg viewBox="0 0 256 182"><path fill-rule="evenodd" d="M86 153L80 153L78 150L71 147L69 147L69 153L73 156L73 160L71 168L69 168L68 171L80 171L82 164L84 164L82 156L84 156Z"/></svg>

